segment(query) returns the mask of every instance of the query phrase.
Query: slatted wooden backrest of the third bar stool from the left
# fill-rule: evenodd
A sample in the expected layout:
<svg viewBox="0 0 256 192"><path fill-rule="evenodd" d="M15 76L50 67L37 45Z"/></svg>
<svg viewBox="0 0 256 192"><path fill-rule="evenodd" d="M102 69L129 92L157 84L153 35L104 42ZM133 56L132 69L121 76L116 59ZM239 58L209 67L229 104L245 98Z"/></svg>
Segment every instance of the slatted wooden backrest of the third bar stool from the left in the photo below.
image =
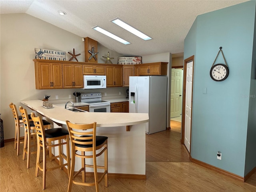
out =
<svg viewBox="0 0 256 192"><path fill-rule="evenodd" d="M46 146L46 138L44 134L44 125L42 121L42 117L36 115L32 112L31 113L31 119L34 122L35 129L36 129L36 138L37 138L37 144L40 146Z"/></svg>

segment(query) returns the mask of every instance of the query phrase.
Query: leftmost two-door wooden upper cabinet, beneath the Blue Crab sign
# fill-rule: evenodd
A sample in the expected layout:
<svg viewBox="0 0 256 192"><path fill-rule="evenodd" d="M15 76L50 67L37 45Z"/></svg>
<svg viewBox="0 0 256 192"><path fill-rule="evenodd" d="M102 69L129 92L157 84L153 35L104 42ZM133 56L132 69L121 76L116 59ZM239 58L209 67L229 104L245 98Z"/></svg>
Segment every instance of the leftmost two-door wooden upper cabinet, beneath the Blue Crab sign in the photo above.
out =
<svg viewBox="0 0 256 192"><path fill-rule="evenodd" d="M62 63L35 62L36 89L62 89Z"/></svg>

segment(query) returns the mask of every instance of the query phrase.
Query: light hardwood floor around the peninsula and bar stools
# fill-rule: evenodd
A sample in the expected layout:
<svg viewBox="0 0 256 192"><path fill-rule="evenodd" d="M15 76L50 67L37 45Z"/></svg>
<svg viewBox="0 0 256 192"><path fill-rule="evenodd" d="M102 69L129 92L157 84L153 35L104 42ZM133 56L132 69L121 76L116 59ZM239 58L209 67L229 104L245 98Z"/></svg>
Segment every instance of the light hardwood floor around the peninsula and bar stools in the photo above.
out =
<svg viewBox="0 0 256 192"><path fill-rule="evenodd" d="M35 174L36 155L26 168L22 155L16 156L14 143L0 148L0 192L42 192L42 172ZM55 164L56 162L50 162ZM256 192L256 174L243 183L190 162L180 144L180 133L162 131L146 135L146 180L109 178L101 192ZM63 170L46 174L44 192L66 192L68 176ZM94 187L73 185L72 192L95 192Z"/></svg>

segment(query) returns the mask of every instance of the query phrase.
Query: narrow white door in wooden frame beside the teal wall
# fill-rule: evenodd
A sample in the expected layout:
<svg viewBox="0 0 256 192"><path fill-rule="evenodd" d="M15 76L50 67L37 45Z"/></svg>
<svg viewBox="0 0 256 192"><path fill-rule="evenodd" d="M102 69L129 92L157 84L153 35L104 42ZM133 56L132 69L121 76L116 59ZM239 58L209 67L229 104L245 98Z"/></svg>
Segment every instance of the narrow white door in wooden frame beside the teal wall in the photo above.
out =
<svg viewBox="0 0 256 192"><path fill-rule="evenodd" d="M191 133L191 109L192 109L192 78L193 61L187 63L186 68L186 98L185 98L185 134L184 144L190 152L190 133Z"/></svg>

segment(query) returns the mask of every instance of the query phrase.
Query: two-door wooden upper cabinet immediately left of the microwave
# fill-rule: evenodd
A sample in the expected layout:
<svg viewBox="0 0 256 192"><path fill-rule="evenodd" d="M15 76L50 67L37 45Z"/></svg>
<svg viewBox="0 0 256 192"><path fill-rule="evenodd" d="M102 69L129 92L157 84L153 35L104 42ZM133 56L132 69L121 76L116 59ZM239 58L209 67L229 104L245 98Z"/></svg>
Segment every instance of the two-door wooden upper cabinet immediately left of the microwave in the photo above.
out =
<svg viewBox="0 0 256 192"><path fill-rule="evenodd" d="M82 64L63 64L63 88L83 88Z"/></svg>

